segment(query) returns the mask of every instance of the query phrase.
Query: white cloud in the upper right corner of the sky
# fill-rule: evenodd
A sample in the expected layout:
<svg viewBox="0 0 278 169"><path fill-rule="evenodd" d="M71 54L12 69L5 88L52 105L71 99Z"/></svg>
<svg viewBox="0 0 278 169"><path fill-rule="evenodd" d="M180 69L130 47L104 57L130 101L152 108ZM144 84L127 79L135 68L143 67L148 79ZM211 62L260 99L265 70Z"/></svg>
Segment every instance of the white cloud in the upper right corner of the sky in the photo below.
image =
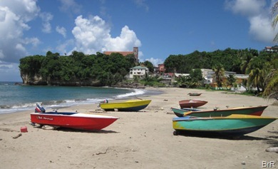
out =
<svg viewBox="0 0 278 169"><path fill-rule="evenodd" d="M266 1L225 1L225 7L235 14L241 14L247 17L250 24L249 34L252 39L255 41L272 43L277 29L272 29L272 20L270 19L269 13L272 6L266 6Z"/></svg>

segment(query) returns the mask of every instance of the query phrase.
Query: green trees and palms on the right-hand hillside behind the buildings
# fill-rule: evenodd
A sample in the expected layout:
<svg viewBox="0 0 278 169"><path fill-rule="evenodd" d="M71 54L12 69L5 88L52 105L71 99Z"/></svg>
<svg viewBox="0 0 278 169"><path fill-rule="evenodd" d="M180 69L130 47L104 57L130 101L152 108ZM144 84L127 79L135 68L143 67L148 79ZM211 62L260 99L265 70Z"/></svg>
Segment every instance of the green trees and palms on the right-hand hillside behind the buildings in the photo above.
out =
<svg viewBox="0 0 278 169"><path fill-rule="evenodd" d="M277 46L273 46L275 48ZM174 73L190 73L192 70L200 68L212 69L217 89L226 89L235 86L235 76L225 77L225 71L232 71L238 74L248 74L247 81L243 81L244 86L249 93L256 95L272 96L277 94L277 67L278 53L268 51L257 51L252 48L232 49L227 48L224 51L217 50L212 52L194 51L187 55L170 55L166 58L165 69ZM189 85L192 76L180 77L177 84L181 87L200 87L203 86L202 79L199 79L197 85ZM223 81L227 78L227 81Z"/></svg>

